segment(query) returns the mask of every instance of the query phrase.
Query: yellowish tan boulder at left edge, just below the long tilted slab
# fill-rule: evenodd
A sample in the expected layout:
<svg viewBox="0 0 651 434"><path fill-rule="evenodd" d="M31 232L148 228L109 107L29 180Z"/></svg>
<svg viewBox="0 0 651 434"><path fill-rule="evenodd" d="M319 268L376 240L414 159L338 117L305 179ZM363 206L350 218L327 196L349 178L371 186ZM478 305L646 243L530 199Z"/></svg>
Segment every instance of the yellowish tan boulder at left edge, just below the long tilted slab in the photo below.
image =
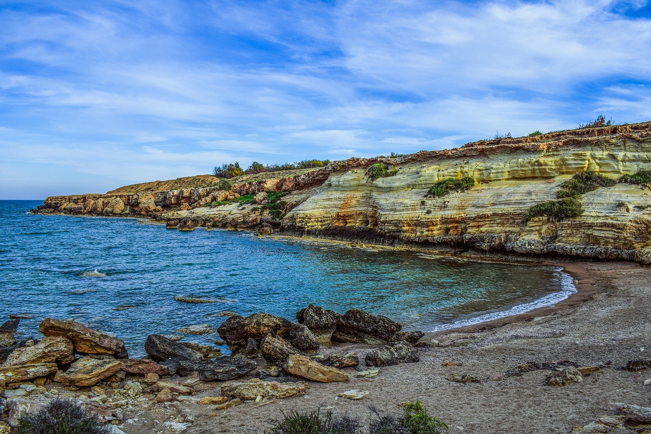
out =
<svg viewBox="0 0 651 434"><path fill-rule="evenodd" d="M31 347L15 349L5 360L5 366L33 365L41 363L66 364L75 360L72 342L68 338L53 336L40 340Z"/></svg>

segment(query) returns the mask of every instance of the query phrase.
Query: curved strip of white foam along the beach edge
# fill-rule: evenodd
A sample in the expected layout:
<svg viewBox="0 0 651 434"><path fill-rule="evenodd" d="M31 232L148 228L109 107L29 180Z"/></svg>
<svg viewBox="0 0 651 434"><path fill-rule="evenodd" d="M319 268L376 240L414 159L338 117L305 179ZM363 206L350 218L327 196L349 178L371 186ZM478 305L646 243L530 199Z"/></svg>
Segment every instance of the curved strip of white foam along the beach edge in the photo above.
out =
<svg viewBox="0 0 651 434"><path fill-rule="evenodd" d="M432 328L432 330L426 331L439 332L441 330L448 330L449 328L459 328L473 324L486 323L488 321L494 321L495 319L506 318L512 315L519 315L520 313L529 312L534 309L554 306L555 304L561 302L562 300L565 300L566 298L570 297L570 295L577 292L572 276L565 272L562 272L562 268L557 268L556 270L559 272L559 274L561 274L561 291L548 294L545 297L538 298L538 300L534 300L530 303L518 304L518 306L513 306L507 310L485 313L484 315L479 315L477 317L454 321L454 323L441 324L439 326L435 326Z"/></svg>

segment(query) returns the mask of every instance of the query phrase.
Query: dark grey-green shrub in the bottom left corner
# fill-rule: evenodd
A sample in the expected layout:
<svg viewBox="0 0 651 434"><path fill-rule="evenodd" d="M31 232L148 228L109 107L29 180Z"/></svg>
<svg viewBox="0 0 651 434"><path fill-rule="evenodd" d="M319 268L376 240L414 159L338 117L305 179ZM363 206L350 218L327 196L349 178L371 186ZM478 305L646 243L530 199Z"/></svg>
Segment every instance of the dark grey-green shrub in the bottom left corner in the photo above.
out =
<svg viewBox="0 0 651 434"><path fill-rule="evenodd" d="M36 414L25 414L18 420L15 434L110 434L100 425L96 415L90 414L75 401L54 399Z"/></svg>

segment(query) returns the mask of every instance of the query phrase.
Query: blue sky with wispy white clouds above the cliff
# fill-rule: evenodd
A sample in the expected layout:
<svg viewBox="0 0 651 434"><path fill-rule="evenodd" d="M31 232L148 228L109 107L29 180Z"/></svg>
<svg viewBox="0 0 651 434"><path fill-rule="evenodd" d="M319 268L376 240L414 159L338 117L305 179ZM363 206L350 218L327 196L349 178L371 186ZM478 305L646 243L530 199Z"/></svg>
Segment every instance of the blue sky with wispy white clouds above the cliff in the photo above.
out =
<svg viewBox="0 0 651 434"><path fill-rule="evenodd" d="M0 0L0 199L651 119L651 1Z"/></svg>

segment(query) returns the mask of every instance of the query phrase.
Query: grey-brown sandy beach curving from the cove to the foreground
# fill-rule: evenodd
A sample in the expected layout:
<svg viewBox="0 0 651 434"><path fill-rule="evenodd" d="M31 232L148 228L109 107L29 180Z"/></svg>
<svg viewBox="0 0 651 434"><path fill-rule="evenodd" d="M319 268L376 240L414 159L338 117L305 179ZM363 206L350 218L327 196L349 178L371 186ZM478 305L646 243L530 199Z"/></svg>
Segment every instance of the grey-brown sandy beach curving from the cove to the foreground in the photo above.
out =
<svg viewBox="0 0 651 434"><path fill-rule="evenodd" d="M128 434L174 432L187 424L187 433L263 433L270 420L292 409L331 409L355 414L363 422L369 407L398 411L404 401L420 400L429 414L444 420L455 433L568 433L604 415L618 414L615 403L651 405L651 386L643 386L651 371L621 368L628 360L648 358L651 351L651 268L634 263L559 263L572 274L578 293L553 308L455 330L428 334L439 345L421 349L421 362L381 368L375 379L352 378L349 383L309 382L306 396L277 399L260 406L247 402L215 412L211 405L189 401L154 404L128 414L122 429ZM341 344L322 348L325 354L357 351L363 360L371 347ZM579 366L602 366L602 373L584 376L581 383L547 386L551 371L504 376L524 362L572 360ZM462 366L442 366L443 362ZM264 361L262 361L264 364ZM262 367L261 364L261 367ZM354 373L352 368L346 369ZM480 379L453 383L452 372ZM214 389L199 394L215 396ZM351 401L337 398L345 390L367 390ZM178 431L176 431L178 432ZM613 432L634 432L619 429Z"/></svg>

